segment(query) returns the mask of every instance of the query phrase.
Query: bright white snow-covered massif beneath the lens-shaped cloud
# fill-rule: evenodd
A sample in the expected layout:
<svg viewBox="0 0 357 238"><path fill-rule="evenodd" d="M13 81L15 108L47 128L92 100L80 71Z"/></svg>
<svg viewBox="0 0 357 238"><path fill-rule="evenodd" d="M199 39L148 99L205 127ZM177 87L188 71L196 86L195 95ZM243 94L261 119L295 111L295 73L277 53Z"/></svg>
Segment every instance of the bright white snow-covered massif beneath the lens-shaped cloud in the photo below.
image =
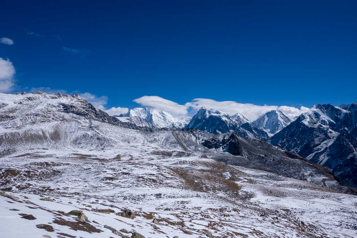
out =
<svg viewBox="0 0 357 238"><path fill-rule="evenodd" d="M155 110L149 107L136 107L130 109L127 113L120 114L116 117L139 117L148 121L156 128L182 128L191 120L190 117L176 118L168 112ZM131 121L135 123L135 120ZM139 123L139 125L142 125L142 122Z"/></svg>

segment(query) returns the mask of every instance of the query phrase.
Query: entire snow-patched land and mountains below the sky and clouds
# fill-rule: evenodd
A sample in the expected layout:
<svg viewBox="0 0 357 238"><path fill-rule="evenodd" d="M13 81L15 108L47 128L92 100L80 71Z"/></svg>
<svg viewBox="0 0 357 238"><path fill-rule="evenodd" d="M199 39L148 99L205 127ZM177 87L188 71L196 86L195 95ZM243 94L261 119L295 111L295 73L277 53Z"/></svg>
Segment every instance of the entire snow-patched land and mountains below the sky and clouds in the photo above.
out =
<svg viewBox="0 0 357 238"><path fill-rule="evenodd" d="M271 145L276 127L206 108L184 126L0 93L0 236L356 237L353 179L336 172L356 158L355 108L318 105Z"/></svg>

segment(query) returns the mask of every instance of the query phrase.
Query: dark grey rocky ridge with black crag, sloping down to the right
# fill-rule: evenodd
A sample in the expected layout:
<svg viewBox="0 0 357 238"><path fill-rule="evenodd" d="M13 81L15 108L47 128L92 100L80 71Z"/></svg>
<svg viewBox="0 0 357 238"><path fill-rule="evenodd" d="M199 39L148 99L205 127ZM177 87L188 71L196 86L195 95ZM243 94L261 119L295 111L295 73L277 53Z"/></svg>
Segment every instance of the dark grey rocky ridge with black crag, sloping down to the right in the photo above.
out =
<svg viewBox="0 0 357 238"><path fill-rule="evenodd" d="M199 131L190 132L196 138L202 139L202 137L206 137L202 140L203 146L209 146L207 148L230 153L232 156L228 156L229 154L227 155L226 153L223 155L221 153L209 154L210 158L227 164L259 169L320 185L323 184L325 179L338 180L328 169L319 164L313 163L294 153L280 150L267 142L245 139L234 133L211 135ZM321 180L321 178L325 179ZM339 185L339 189L341 192L355 194L353 190L342 184Z"/></svg>

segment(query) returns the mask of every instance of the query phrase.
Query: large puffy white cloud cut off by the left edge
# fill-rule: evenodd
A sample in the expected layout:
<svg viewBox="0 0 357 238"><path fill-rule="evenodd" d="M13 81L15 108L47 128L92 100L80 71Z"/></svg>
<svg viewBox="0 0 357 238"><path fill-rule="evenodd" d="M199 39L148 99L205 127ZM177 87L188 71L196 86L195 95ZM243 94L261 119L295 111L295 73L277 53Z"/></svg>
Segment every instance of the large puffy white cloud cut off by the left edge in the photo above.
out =
<svg viewBox="0 0 357 238"><path fill-rule="evenodd" d="M15 86L15 72L12 62L0 57L0 92L9 92Z"/></svg>

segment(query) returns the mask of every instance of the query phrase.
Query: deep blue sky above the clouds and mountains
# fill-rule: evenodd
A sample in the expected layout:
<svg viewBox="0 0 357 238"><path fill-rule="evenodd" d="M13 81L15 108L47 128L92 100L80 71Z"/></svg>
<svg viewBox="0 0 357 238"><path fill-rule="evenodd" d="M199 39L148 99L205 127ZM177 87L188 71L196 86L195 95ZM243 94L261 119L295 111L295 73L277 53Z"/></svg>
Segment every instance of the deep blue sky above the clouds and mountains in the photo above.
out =
<svg viewBox="0 0 357 238"><path fill-rule="evenodd" d="M22 88L106 95L108 107L144 95L355 102L357 1L291 2L2 1L0 37L15 43L0 57Z"/></svg>

